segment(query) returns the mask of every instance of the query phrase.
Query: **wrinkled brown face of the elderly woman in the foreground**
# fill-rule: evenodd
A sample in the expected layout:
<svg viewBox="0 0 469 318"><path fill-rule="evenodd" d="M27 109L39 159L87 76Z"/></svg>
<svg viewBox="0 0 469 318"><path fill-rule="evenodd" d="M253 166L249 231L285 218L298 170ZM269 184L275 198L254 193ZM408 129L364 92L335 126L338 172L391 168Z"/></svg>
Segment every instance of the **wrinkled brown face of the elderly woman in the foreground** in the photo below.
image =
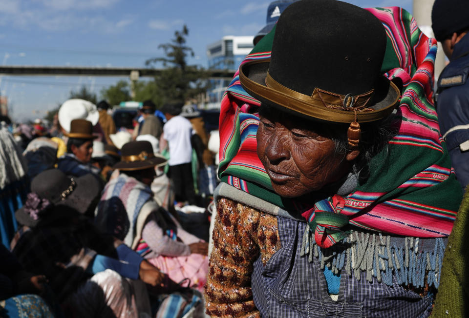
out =
<svg viewBox="0 0 469 318"><path fill-rule="evenodd" d="M348 173L346 156L336 153L333 140L321 136L315 122L269 106L262 106L259 115L257 156L281 197L318 191Z"/></svg>

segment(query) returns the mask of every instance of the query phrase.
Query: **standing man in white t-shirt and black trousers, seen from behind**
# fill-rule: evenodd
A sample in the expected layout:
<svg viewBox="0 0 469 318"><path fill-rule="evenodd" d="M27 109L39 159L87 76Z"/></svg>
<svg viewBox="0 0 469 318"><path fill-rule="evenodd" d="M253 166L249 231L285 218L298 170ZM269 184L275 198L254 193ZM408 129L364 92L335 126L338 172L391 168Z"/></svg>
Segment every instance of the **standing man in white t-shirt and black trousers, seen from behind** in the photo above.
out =
<svg viewBox="0 0 469 318"><path fill-rule="evenodd" d="M175 199L195 204L191 164L192 124L188 119L179 116L182 105L182 103L171 103L161 109L168 120L163 126L163 138L168 142L170 150L168 176L174 184Z"/></svg>

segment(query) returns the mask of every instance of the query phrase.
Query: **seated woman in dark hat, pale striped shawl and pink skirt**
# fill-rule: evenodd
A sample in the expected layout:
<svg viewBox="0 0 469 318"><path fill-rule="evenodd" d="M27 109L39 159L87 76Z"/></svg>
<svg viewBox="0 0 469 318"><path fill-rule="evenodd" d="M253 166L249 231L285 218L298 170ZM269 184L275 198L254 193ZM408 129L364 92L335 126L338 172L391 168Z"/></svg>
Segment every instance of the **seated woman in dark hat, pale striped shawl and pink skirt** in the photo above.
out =
<svg viewBox="0 0 469 318"><path fill-rule="evenodd" d="M114 166L120 174L106 184L95 224L136 249L172 280L189 278L192 287L202 290L208 270L207 242L183 230L149 187L155 166L167 160L154 155L148 141L128 142L121 155Z"/></svg>

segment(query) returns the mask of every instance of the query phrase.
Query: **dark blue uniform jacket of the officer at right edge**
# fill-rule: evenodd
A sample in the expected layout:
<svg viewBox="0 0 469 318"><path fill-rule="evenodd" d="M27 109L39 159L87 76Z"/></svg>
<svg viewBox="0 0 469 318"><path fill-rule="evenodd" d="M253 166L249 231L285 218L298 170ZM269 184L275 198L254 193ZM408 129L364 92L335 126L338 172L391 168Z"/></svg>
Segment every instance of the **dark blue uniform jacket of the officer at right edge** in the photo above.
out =
<svg viewBox="0 0 469 318"><path fill-rule="evenodd" d="M469 183L469 34L454 46L438 80L436 111L451 164L464 188Z"/></svg>

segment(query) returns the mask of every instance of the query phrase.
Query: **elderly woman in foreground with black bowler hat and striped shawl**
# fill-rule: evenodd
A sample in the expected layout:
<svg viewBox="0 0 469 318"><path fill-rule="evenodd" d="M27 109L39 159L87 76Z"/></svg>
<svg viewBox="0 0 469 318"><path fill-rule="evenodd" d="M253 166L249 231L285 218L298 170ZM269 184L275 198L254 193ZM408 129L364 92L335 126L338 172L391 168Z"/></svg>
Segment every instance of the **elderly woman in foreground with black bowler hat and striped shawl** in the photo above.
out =
<svg viewBox="0 0 469 318"><path fill-rule="evenodd" d="M269 41L222 101L207 313L428 316L461 201L436 42L399 8L335 0L291 4L265 59Z"/></svg>

